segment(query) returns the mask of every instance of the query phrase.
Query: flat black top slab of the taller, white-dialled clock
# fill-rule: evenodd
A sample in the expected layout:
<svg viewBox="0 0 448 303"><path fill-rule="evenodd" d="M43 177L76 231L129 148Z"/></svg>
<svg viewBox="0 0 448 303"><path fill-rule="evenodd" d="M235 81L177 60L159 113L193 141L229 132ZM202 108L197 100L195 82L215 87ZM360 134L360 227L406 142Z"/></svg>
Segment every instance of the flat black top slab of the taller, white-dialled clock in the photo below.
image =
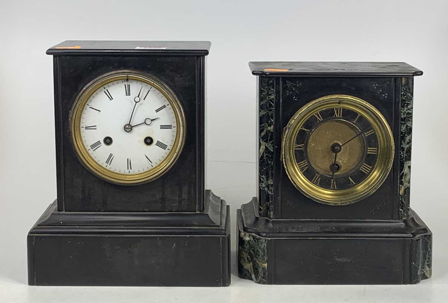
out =
<svg viewBox="0 0 448 303"><path fill-rule="evenodd" d="M210 41L106 41L66 40L47 55L208 55Z"/></svg>

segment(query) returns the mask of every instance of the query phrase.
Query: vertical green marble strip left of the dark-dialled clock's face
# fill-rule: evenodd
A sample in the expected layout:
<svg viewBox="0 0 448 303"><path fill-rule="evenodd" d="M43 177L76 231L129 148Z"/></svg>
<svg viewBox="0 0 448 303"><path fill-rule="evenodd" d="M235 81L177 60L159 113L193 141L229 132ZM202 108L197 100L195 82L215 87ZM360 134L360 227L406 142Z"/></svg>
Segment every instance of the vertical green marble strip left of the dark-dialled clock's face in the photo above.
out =
<svg viewBox="0 0 448 303"><path fill-rule="evenodd" d="M273 214L273 141L275 78L260 77L259 97L259 190L260 215Z"/></svg>

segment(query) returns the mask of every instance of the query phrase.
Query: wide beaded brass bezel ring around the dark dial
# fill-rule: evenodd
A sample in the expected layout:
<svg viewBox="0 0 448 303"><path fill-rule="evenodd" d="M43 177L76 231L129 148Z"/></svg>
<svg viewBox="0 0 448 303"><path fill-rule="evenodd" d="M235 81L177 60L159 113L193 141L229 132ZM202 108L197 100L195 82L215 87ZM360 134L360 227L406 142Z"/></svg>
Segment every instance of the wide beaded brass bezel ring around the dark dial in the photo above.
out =
<svg viewBox="0 0 448 303"><path fill-rule="evenodd" d="M378 146L381 147L370 175L356 186L343 190L321 188L306 179L299 170L294 155L294 142L302 124L316 111L333 107L346 108L363 115L372 125L378 138ZM365 199L383 184L392 168L395 145L387 120L374 106L360 98L334 94L307 103L293 115L284 130L281 151L286 174L300 192L322 204L347 205Z"/></svg>

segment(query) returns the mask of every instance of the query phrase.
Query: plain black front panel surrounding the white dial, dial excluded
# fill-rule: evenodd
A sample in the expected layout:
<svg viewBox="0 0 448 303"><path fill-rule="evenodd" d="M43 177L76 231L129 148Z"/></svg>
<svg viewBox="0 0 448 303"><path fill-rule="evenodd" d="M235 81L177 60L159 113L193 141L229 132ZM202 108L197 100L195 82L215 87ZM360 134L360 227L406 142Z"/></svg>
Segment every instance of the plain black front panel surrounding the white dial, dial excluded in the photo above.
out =
<svg viewBox="0 0 448 303"><path fill-rule="evenodd" d="M203 55L54 55L56 175L63 211L193 212L203 209L205 158L205 57ZM123 186L99 179L76 156L69 115L80 90L104 73L137 70L164 81L185 113L185 144L160 178Z"/></svg>

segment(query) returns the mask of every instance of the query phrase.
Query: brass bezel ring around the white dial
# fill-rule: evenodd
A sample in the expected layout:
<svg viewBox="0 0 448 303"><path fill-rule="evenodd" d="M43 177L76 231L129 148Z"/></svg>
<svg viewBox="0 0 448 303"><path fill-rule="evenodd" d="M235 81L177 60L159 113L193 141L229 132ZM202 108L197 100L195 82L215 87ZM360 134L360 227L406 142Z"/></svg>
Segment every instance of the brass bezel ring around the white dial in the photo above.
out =
<svg viewBox="0 0 448 303"><path fill-rule="evenodd" d="M116 173L113 171L109 171L108 169L99 165L87 152L87 149L82 144L81 139L80 122L82 108L84 108L90 96L101 86L113 81L124 79L143 81L155 87L162 94L164 94L165 98L167 98L168 102L173 108L176 125L182 126L177 128L178 131L176 132L176 138L174 140L173 148L171 149L167 158L165 158L164 161L162 161L159 165L155 166L151 170L138 174ZM135 70L117 70L110 73L105 73L100 77L95 78L93 81L90 81L81 90L81 92L73 102L73 106L70 111L69 125L70 138L73 144L73 148L75 149L75 154L77 155L82 165L84 165L89 171L97 175L99 178L114 184L137 185L159 178L161 175L166 173L176 162L185 142L185 114L182 109L181 102L179 101L177 96L168 87L168 85L164 84L164 82L159 80L157 77Z"/></svg>

